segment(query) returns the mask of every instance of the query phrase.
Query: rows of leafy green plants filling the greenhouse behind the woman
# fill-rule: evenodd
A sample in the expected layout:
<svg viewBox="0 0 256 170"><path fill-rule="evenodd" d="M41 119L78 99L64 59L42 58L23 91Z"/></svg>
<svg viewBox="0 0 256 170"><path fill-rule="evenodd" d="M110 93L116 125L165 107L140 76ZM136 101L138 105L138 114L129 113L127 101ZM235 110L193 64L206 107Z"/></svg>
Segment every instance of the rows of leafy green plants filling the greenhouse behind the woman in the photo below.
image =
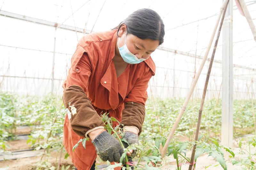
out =
<svg viewBox="0 0 256 170"><path fill-rule="evenodd" d="M146 137L151 138L157 148L159 148L161 143L164 145L165 139L178 116L183 102L183 98L148 99L146 117L140 135L142 137L140 143L144 145L145 142L143 142L143 138ZM256 110L256 101L254 100L253 102L254 110ZM178 129L175 132L175 136L184 136L186 140L193 141L199 105L200 99L193 99L193 101L189 102ZM37 166L53 169L53 166L47 162L47 159L51 157L51 152L55 150L58 153L62 152L66 154L62 145L63 123L66 114L65 109L61 96L54 96L52 94L45 96L19 96L0 92L0 152L5 152L6 147L8 147L6 146L7 140L14 140L16 138L15 131L18 126L28 125L32 129L28 143L36 150L43 148L45 151L45 159L42 159L44 161L40 162ZM252 100L234 100L233 110L234 137L253 133L254 119L252 116ZM216 140L210 139L210 143L213 142L217 150L219 147L217 140L220 138L220 130L221 100L208 100L204 104L200 132L204 132L210 137L216 138ZM207 150L206 148L211 148L212 146L205 143L205 141L201 143L201 149L200 147L197 148L197 153L208 152L215 159L219 159L220 164L222 162L222 167L225 166L224 159L220 158L221 152ZM250 144L254 143L249 142L249 145ZM189 143L189 145L192 145L192 143ZM168 148L168 155L173 154L175 157L176 152L183 154L185 153L186 147L188 147L188 143L186 142L173 141ZM143 148L141 150L143 150ZM150 156L154 156L153 152L151 154L148 154L147 157L143 159L146 161L147 159L150 160ZM155 155L157 155L157 153L155 153ZM67 156L66 154L65 157ZM234 159L234 164L239 164L239 161ZM242 164L243 163L240 163L240 165Z"/></svg>

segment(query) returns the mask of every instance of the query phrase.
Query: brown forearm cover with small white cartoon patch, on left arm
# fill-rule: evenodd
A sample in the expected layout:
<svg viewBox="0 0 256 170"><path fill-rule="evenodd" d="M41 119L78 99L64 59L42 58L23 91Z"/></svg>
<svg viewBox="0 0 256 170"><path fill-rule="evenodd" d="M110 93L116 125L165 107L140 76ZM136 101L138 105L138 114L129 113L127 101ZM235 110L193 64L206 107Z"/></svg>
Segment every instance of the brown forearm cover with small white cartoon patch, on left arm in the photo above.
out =
<svg viewBox="0 0 256 170"><path fill-rule="evenodd" d="M85 136L85 133L95 127L104 126L100 116L92 107L90 99L85 95L83 89L79 86L69 86L63 93L63 103L68 108L68 103L74 105L76 114L71 115L69 120L72 129L79 136ZM70 110L70 109L69 109Z"/></svg>

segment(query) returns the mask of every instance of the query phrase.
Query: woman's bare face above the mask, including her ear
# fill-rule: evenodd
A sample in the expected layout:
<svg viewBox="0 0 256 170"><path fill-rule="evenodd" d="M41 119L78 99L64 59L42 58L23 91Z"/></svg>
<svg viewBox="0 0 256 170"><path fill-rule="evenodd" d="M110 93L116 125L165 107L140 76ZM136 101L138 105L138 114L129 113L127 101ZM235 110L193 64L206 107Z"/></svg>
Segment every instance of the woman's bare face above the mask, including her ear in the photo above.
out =
<svg viewBox="0 0 256 170"><path fill-rule="evenodd" d="M126 25L123 24L118 32L118 37L120 37L118 40L119 47L124 46L125 35ZM140 39L133 34L127 34L126 46L138 59L147 59L159 46L159 41L152 39Z"/></svg>

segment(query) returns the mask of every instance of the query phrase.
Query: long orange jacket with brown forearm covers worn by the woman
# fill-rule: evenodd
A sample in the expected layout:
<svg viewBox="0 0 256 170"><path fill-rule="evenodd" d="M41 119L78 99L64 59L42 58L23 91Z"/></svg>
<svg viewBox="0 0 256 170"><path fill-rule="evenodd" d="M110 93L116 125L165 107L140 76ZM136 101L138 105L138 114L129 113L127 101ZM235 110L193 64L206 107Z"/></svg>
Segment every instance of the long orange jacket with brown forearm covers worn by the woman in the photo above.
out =
<svg viewBox="0 0 256 170"><path fill-rule="evenodd" d="M81 144L74 152L72 148L86 132L104 125L99 116L102 111L124 125L138 127L141 132L148 81L155 75L156 67L149 57L139 64L128 64L117 77L113 62L116 40L116 29L82 37L62 85L65 107L69 110L69 104L76 107L70 120L68 115L65 117L63 143L78 169L90 169L97 154L91 139L86 142L85 150Z"/></svg>

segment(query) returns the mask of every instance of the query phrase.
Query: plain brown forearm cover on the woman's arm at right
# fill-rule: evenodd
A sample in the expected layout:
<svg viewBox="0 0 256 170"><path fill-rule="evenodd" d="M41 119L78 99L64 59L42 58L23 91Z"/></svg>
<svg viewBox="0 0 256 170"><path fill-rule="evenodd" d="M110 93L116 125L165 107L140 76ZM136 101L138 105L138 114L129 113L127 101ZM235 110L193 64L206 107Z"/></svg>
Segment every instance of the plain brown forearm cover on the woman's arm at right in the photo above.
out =
<svg viewBox="0 0 256 170"><path fill-rule="evenodd" d="M121 124L124 126L136 126L139 129L138 136L142 130L145 118L145 106L139 103L127 102L124 104Z"/></svg>

